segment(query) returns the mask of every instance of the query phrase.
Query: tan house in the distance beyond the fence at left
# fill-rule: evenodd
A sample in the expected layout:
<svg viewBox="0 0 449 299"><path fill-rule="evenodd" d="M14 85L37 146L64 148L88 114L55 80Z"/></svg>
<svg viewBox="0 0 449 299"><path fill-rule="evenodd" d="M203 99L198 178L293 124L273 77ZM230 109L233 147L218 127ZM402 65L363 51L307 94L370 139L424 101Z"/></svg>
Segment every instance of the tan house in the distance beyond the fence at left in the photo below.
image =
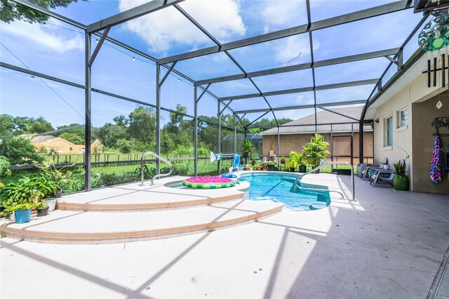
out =
<svg viewBox="0 0 449 299"><path fill-rule="evenodd" d="M31 139L36 151L45 150L46 152L55 152L55 154L81 154L84 152L84 145L75 145L64 138L51 135L36 136ZM95 139L91 144L91 151L95 154L101 154L103 145L100 140Z"/></svg>

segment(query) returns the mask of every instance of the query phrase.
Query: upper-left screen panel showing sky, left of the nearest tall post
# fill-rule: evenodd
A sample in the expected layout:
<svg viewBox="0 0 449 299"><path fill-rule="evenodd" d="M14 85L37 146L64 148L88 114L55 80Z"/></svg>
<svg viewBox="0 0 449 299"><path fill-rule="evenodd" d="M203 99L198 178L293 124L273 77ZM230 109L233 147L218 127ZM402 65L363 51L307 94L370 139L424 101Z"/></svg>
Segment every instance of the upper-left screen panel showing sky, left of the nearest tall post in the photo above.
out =
<svg viewBox="0 0 449 299"><path fill-rule="evenodd" d="M1 22L0 60L35 72L84 82L84 32L53 18L46 24Z"/></svg>

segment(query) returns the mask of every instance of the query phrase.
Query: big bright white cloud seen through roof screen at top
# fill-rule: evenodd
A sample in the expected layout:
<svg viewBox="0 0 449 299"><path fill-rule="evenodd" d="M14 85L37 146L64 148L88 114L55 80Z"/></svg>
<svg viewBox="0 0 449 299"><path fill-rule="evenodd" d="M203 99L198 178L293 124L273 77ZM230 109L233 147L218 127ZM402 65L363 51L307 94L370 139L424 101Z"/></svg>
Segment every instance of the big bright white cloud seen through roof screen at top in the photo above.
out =
<svg viewBox="0 0 449 299"><path fill-rule="evenodd" d="M146 2L121 0L119 9L126 11ZM234 0L192 0L182 2L180 6L220 41L243 36L246 32L239 15L239 5ZM131 20L123 26L138 34L156 53L165 54L174 44L196 47L210 42L205 34L173 7Z"/></svg>

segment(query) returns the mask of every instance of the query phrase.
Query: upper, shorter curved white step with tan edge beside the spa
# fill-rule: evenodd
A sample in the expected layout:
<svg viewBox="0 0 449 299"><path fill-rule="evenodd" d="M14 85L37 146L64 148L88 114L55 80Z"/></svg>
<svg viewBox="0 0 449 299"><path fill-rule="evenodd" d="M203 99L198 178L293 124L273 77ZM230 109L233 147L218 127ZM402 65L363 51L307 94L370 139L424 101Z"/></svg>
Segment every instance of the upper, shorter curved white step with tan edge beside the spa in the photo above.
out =
<svg viewBox="0 0 449 299"><path fill-rule="evenodd" d="M58 210L95 212L152 211L171 208L204 206L241 199L249 184L242 182L231 188L218 190L175 189L166 184L183 178L156 180L155 185L140 186L137 182L106 187L91 192L65 195L58 200Z"/></svg>

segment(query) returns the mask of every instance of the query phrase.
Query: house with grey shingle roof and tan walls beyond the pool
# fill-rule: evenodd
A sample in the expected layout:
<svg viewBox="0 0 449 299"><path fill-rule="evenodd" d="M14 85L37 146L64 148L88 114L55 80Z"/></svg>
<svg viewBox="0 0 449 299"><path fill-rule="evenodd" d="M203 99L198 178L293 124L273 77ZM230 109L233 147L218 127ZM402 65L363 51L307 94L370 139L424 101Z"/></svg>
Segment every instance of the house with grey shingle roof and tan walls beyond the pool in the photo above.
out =
<svg viewBox="0 0 449 299"><path fill-rule="evenodd" d="M333 157L328 160L351 161L351 135L353 144L353 163L358 163L358 124L338 124L355 122L360 119L363 107L344 107L332 109L333 112L323 110L316 114L316 132L323 135L324 140L329 142L328 150ZM342 117L339 114L347 115ZM302 147L311 140L315 134L315 114L290 121L279 126L279 156L288 156L290 152L302 152ZM323 125L326 124L326 125ZM333 125L330 125L333 124ZM278 154L278 128L271 128L261 133L263 136L263 154ZM370 125L364 126L363 133L363 157L364 161L372 161L373 157L373 129ZM330 155L330 156L331 156Z"/></svg>

